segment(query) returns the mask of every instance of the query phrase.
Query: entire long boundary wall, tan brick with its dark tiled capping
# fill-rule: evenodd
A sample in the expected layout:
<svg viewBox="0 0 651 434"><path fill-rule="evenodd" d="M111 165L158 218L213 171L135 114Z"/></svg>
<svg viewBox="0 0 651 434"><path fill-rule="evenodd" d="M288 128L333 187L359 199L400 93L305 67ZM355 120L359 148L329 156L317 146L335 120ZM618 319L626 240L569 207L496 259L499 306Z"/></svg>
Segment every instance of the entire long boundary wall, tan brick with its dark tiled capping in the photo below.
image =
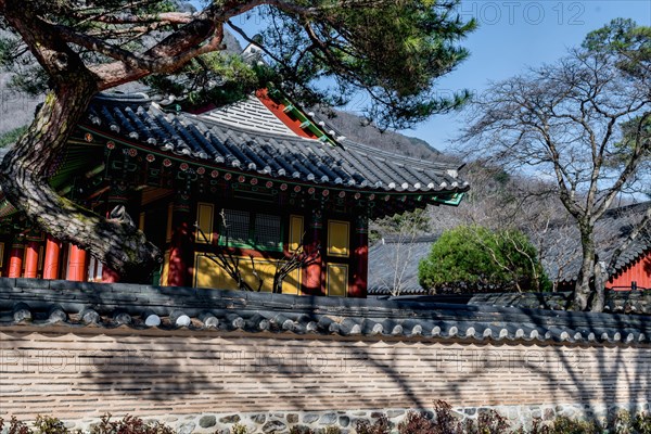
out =
<svg viewBox="0 0 651 434"><path fill-rule="evenodd" d="M0 279L0 416L639 406L649 336L646 316Z"/></svg>

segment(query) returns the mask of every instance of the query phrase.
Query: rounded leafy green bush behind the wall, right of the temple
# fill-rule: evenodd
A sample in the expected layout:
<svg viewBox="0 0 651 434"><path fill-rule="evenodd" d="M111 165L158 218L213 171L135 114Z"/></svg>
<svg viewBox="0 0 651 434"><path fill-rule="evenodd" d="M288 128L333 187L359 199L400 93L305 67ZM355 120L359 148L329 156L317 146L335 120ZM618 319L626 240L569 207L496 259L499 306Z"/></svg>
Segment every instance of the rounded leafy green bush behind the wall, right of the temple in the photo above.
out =
<svg viewBox="0 0 651 434"><path fill-rule="evenodd" d="M461 226L446 231L418 268L420 284L434 293L549 288L536 248L518 230Z"/></svg>

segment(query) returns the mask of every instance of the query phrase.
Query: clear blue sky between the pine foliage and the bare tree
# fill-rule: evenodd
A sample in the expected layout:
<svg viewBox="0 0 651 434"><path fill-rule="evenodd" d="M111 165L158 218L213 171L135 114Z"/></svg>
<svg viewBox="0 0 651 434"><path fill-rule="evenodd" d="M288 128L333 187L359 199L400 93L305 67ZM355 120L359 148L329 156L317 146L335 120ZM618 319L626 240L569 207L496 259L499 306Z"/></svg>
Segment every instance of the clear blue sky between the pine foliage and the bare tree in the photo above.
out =
<svg viewBox="0 0 651 434"><path fill-rule="evenodd" d="M651 0L471 0L462 1L459 11L465 18L475 17L480 26L462 43L470 58L439 81L442 94L462 88L481 93L490 80L509 78L527 65L554 62L615 17L651 26ZM452 113L403 132L445 151L462 126L463 114Z"/></svg>

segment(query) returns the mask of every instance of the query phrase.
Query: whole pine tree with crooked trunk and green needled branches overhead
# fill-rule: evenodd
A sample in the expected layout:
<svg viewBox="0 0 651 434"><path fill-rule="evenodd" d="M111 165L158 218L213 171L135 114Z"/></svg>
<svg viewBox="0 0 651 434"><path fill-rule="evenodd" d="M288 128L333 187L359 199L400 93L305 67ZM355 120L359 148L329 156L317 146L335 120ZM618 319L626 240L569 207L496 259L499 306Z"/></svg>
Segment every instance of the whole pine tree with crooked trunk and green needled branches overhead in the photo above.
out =
<svg viewBox="0 0 651 434"><path fill-rule="evenodd" d="M261 85L295 99L344 103L359 91L368 114L405 126L459 106L467 98L434 94L436 78L461 62L457 46L471 31L454 0L215 0L179 12L168 0L0 0L0 61L20 71L15 85L44 89L31 125L0 166L9 201L43 231L73 242L129 280L161 253L135 228L107 221L61 197L48 168L99 91L149 78L189 104L237 98ZM222 53L233 21L258 13L256 38L268 67ZM177 74L180 80L166 80ZM171 82L182 88L169 89ZM329 89L319 84L329 82ZM206 86L217 86L206 89ZM192 91L194 89L194 91ZM210 91L207 91L210 90Z"/></svg>

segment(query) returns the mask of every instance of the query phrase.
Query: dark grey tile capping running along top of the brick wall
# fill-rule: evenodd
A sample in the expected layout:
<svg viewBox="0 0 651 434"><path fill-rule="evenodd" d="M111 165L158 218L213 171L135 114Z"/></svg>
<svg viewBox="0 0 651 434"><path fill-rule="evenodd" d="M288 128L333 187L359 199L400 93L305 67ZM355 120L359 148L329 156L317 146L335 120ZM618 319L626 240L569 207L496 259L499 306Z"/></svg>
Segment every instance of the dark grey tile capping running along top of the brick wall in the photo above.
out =
<svg viewBox="0 0 651 434"><path fill-rule="evenodd" d="M651 339L641 316L0 279L0 328L22 326L621 345Z"/></svg>

